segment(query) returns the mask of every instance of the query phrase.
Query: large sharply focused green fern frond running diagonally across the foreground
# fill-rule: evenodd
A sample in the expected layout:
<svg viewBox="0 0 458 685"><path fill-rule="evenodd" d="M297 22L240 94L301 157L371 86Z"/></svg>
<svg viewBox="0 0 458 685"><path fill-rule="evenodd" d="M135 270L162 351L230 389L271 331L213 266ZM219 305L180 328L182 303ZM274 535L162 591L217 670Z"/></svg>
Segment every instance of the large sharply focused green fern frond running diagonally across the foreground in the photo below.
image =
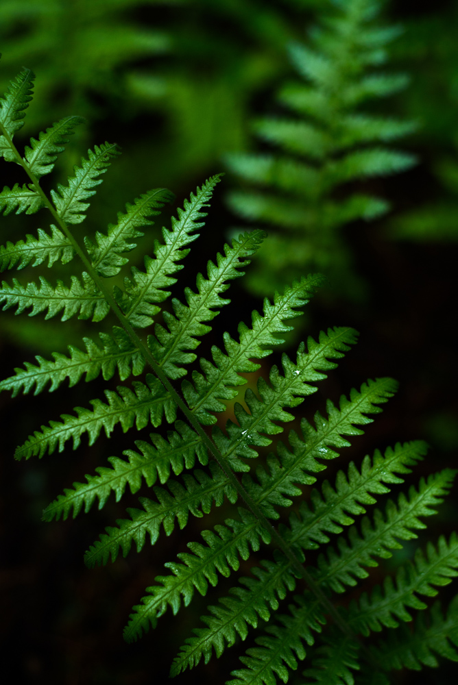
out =
<svg viewBox="0 0 458 685"><path fill-rule="evenodd" d="M136 493L145 483L150 497L142 497L139 508L129 509L128 517L108 527L86 552L86 564L94 566L115 560L121 551L126 555L132 543L138 551L147 539L154 545L162 531L169 535L177 524L184 529L190 514L202 517L223 504L229 510L224 521L202 532L200 541L188 543L188 552L165 564L165 575L152 579L154 584L134 606L125 627L126 640L156 627L168 608L176 614L191 602L195 590L206 595L220 576L228 577L241 560L250 559L250 575L240 577L208 608L202 626L182 645L171 675L208 662L213 651L220 656L239 638L245 640L251 628L258 628L258 636L226 681L231 685L269 685L276 676L287 682L305 659L305 682L333 684L388 683L391 669L435 665L437 655L457 660L457 599L446 610L439 604L429 607L422 599L433 597L438 586L458 575L457 536L439 537L426 550L418 549L394 577L388 574L383 584L352 595L378 558L389 558L402 540L415 538L415 531L425 527L423 517L435 513L455 471L420 479L407 495L389 499L382 510L374 509L356 523L357 516L401 484L426 453L420 441L398 443L365 456L359 466L351 462L346 472L339 471L335 484L324 480L311 490L308 501L302 497L303 486L315 484L326 462L337 458L350 445L348 438L361 434L372 422L370 416L381 411L396 382L370 380L337 405L328 401L324 414L316 412L313 421L303 418L300 430L290 430L285 440L273 444L273 436L292 421L291 410L315 392L316 384L356 343L353 329L329 328L301 343L294 358L283 354L280 367L272 366L268 378L258 381L256 393L245 392L246 408L236 404L234 420L224 428L216 425L226 401L245 383L241 374L258 369L259 360L282 342L279 335L291 330L291 319L322 284L322 276L302 277L276 293L273 301L265 299L262 314L255 311L249 325L241 323L237 338L224 334L223 347L213 346L210 358L200 358L200 371L189 374L200 338L210 331L208 322L229 303L224 297L229 282L242 275L263 234L242 234L225 245L224 253L208 262L206 276L197 275L195 290L186 288L183 301L173 299L171 308L163 308L189 245L204 226L204 208L219 182L218 175L210 177L184 201L171 228L162 229L162 241L156 240L143 268L132 266L120 282L117 276L128 266L126 255L142 238L141 229L171 194L164 189L146 192L128 204L105 233L80 240L73 227L86 218L88 200L118 150L108 142L95 147L75 166L67 185L59 184L47 195L40 177L52 171L80 121L69 118L53 124L38 140L32 138L22 156L13 138L32 99L32 81L32 72L22 71L1 101L3 158L21 165L28 181L3 188L0 202L4 214L32 214L43 208L53 223L36 237L8 242L0 251L1 265L23 269L47 261L51 266L78 256L84 271L72 275L69 284L51 284L44 277L25 286L19 279L4 282L3 308L27 310L30 316L46 312L47 319L79 316L94 323L113 316L115 325L110 332L84 338L84 345L69 345L67 355L56 352L52 360L25 362L0 383L0 390L12 390L13 395L34 390L38 395L57 390L66 380L74 386L83 376L89 382L99 375L106 381L119 375L128 384L117 391L107 389L105 399L94 399L91 408L77 407L75 413L42 426L17 448L16 458L41 458L62 451L70 441L75 449L85 433L92 445L102 431L107 437L116 434L117 424L124 432L134 426L164 426L149 440L137 440L123 458L108 458L108 465L86 476L86 482L64 490L47 506L44 519L88 512L97 500L102 508L111 493L119 500L126 486ZM109 279L115 279L112 288ZM159 312L162 323L154 323ZM141 329L147 329L146 338L139 335ZM130 382L132 376L142 379ZM269 445L274 451L264 459L263 448ZM262 463L256 465L256 458ZM296 500L300 505L293 508ZM337 545L334 534L341 534ZM317 549L316 561L306 564L307 551L314 558ZM414 612L413 630L405 630L404 622ZM366 642L372 632L381 631L381 640Z"/></svg>

